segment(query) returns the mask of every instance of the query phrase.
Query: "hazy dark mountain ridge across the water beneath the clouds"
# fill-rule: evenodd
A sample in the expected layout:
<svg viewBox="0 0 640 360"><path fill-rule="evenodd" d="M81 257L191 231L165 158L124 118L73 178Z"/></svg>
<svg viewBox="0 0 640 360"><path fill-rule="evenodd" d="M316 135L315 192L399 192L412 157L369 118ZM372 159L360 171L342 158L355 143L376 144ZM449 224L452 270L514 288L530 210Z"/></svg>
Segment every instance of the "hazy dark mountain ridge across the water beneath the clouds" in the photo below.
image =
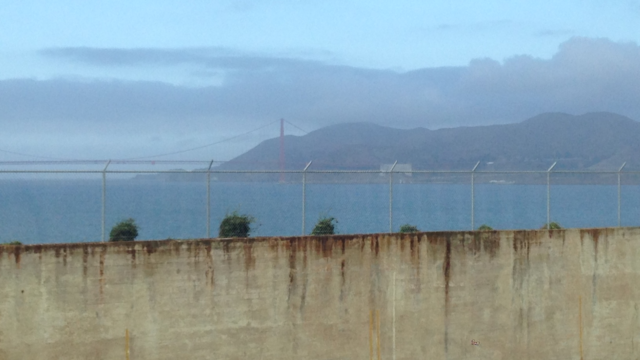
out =
<svg viewBox="0 0 640 360"><path fill-rule="evenodd" d="M370 123L336 124L285 136L285 169L379 170L410 163L414 170L617 170L640 168L640 122L607 112L543 113L516 124L429 130ZM278 170L280 140L265 140L216 170Z"/></svg>

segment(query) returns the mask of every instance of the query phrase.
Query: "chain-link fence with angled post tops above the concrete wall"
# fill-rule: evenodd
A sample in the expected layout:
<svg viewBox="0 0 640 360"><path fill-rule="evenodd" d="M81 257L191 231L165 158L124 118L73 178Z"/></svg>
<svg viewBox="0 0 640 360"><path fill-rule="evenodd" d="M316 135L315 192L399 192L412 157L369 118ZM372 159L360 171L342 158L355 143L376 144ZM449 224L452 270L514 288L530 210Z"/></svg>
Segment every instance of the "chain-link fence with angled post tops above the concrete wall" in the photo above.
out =
<svg viewBox="0 0 640 360"><path fill-rule="evenodd" d="M0 243L106 241L127 218L138 225L139 239L217 237L234 213L253 220L250 236L310 234L332 218L341 234L397 232L404 224L420 231L640 225L640 172L623 168L280 172L218 170L212 161L0 165Z"/></svg>

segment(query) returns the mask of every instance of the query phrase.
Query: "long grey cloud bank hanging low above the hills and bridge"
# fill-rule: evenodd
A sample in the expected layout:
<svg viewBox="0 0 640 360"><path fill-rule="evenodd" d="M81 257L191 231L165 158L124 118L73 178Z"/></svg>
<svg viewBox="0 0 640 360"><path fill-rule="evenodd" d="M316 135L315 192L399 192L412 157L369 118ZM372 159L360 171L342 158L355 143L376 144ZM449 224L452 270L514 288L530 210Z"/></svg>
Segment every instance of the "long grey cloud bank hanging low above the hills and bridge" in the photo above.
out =
<svg viewBox="0 0 640 360"><path fill-rule="evenodd" d="M369 121L392 127L453 127L519 122L546 111L612 111L640 120L640 47L572 38L549 60L515 56L466 67L358 69L320 61L211 49L42 51L47 57L97 66L190 63L223 70L221 86L188 88L143 81L52 79L0 81L6 131L54 127L100 134L131 131L240 133L284 117L307 129ZM52 125L55 124L55 125Z"/></svg>

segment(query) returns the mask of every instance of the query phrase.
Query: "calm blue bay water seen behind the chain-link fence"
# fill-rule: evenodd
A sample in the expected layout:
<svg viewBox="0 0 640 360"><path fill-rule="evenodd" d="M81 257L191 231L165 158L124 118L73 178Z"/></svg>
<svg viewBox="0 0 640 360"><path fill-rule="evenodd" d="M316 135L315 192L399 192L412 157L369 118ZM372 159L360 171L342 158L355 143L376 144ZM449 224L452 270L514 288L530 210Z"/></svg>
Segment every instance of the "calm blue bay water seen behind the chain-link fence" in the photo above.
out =
<svg viewBox="0 0 640 360"><path fill-rule="evenodd" d="M256 218L254 236L301 233L301 184L211 183L211 235L225 213L239 209ZM495 229L539 228L547 219L547 186L477 184L475 225ZM471 227L471 189L465 184L394 184L394 231ZM100 180L0 181L0 243L100 241ZM338 220L337 231L384 233L389 228L388 184L307 184L310 233L321 215ZM138 239L202 238L207 234L205 183L109 180L106 233L132 217ZM622 187L621 224L640 225L640 186ZM617 186L554 185L551 218L563 227L618 224Z"/></svg>

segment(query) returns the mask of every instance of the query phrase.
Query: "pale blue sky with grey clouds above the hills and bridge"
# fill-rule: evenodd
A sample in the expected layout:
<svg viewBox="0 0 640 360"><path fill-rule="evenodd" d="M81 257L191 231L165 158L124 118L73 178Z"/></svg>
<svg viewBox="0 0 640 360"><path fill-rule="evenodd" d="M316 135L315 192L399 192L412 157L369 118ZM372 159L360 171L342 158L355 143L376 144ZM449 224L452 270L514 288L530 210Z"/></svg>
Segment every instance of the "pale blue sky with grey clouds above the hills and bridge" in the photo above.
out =
<svg viewBox="0 0 640 360"><path fill-rule="evenodd" d="M636 0L3 0L0 19L0 161L226 161L281 118L640 120Z"/></svg>

